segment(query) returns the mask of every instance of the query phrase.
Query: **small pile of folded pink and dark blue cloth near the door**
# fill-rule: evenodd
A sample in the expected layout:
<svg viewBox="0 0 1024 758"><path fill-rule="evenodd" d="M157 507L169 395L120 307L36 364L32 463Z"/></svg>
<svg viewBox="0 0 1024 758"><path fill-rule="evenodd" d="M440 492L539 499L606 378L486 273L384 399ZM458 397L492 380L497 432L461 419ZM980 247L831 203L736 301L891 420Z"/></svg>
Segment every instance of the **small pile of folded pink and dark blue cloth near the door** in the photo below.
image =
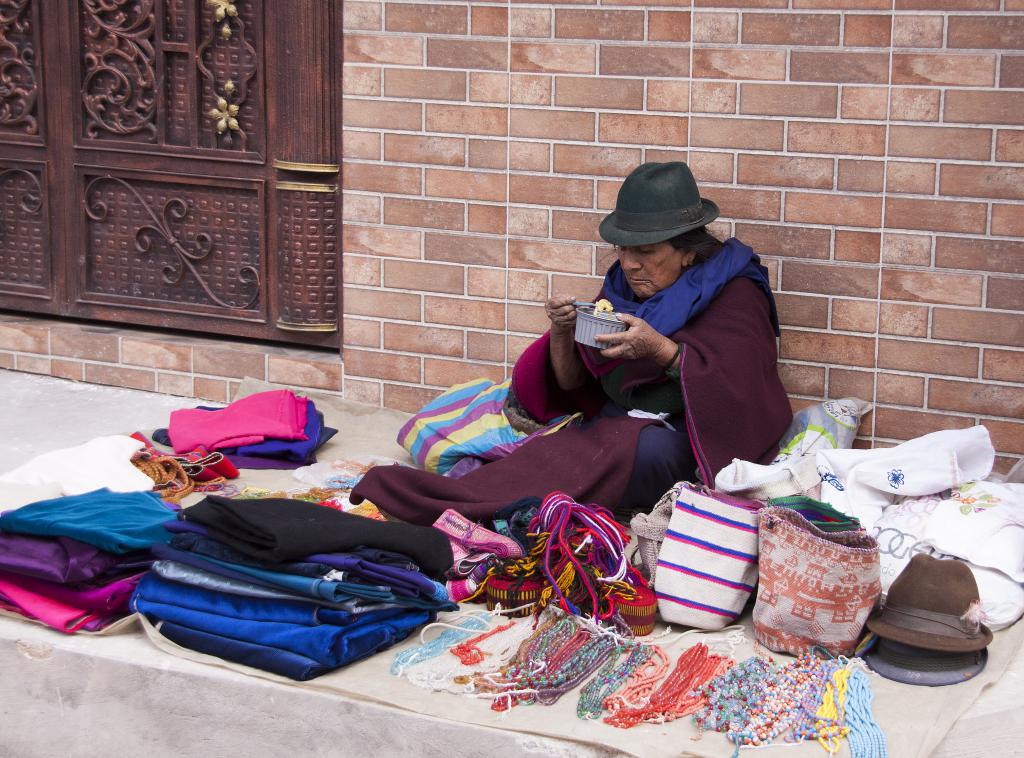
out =
<svg viewBox="0 0 1024 758"><path fill-rule="evenodd" d="M324 423L312 401L287 389L243 397L226 408L174 411L153 439L179 455L216 451L238 468L299 468L338 433Z"/></svg>

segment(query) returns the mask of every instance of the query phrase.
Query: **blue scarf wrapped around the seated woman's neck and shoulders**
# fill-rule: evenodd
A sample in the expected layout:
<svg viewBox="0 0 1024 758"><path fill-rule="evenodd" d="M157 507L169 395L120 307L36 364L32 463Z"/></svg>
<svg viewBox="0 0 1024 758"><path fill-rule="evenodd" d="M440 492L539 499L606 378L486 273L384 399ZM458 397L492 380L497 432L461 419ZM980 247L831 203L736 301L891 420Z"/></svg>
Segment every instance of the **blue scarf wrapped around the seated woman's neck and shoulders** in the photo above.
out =
<svg viewBox="0 0 1024 758"><path fill-rule="evenodd" d="M777 335L778 314L768 284L768 269L761 265L761 258L751 248L735 238L726 240L716 255L703 263L690 266L673 285L643 302L637 301L622 265L615 261L604 277L602 296L611 301L616 313L630 313L643 319L658 334L671 337L711 305L722 288L735 277L754 280L765 293L771 309L772 327Z"/></svg>

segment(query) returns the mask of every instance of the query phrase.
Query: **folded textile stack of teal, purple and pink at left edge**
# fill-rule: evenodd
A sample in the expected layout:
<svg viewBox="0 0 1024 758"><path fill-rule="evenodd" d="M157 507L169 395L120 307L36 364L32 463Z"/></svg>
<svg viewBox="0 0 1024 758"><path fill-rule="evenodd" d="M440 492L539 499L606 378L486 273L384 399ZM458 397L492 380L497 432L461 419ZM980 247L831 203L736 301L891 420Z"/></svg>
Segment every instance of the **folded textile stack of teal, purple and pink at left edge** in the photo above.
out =
<svg viewBox="0 0 1024 758"><path fill-rule="evenodd" d="M155 493L96 490L0 515L0 609L58 631L98 632L128 601L166 542L172 515Z"/></svg>

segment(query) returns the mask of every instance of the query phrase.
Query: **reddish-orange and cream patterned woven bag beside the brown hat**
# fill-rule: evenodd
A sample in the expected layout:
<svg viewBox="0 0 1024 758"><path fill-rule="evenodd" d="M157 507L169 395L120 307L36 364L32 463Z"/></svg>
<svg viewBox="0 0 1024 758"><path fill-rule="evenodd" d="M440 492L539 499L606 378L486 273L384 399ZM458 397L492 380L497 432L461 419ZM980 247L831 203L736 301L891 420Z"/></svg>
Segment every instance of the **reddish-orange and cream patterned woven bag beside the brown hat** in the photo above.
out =
<svg viewBox="0 0 1024 758"><path fill-rule="evenodd" d="M794 655L814 645L853 652L882 593L878 543L863 532L822 532L790 508L761 511L758 541L758 641Z"/></svg>

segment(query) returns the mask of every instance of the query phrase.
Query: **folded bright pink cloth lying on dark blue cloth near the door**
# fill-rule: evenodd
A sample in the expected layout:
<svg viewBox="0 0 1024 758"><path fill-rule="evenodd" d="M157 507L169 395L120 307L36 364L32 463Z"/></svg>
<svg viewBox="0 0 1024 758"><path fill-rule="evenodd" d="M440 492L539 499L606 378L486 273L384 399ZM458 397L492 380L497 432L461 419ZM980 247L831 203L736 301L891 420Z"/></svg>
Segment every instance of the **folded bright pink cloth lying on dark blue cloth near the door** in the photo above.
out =
<svg viewBox="0 0 1024 758"><path fill-rule="evenodd" d="M305 439L306 402L287 389L258 392L219 411L171 412L167 434L175 453L219 450L265 439Z"/></svg>

